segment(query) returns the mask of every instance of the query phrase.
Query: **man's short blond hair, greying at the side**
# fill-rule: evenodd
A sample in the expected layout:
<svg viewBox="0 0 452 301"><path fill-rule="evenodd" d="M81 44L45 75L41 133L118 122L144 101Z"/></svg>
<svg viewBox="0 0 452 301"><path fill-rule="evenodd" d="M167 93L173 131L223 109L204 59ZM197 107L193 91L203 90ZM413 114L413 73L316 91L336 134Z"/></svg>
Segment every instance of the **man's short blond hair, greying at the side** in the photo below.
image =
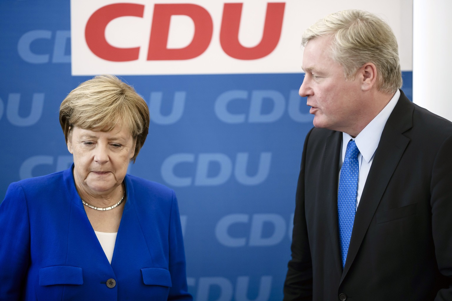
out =
<svg viewBox="0 0 452 301"><path fill-rule="evenodd" d="M377 66L377 88L395 93L402 86L397 39L389 25L375 14L349 9L327 15L303 33L301 44L332 36L331 57L344 67L346 79L366 63Z"/></svg>

